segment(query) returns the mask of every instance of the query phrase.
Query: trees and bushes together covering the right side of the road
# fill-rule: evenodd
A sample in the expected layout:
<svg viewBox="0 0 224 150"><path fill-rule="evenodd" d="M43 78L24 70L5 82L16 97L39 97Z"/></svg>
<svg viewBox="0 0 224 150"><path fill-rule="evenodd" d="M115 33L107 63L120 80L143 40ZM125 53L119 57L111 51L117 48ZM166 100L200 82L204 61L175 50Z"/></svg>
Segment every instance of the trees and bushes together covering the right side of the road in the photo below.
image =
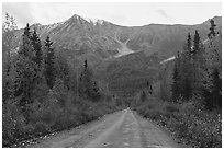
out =
<svg viewBox="0 0 224 150"><path fill-rule="evenodd" d="M153 94L143 90L133 109L166 127L189 147L222 147L222 34L213 20L208 41L188 34L175 62L161 67Z"/></svg>

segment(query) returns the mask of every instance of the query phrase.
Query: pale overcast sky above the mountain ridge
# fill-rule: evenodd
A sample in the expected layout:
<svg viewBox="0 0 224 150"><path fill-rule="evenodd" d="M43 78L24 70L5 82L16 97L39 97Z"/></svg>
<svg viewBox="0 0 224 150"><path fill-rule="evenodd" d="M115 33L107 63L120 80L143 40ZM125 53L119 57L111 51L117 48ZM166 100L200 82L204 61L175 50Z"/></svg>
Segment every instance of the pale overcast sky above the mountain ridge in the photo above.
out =
<svg viewBox="0 0 224 150"><path fill-rule="evenodd" d="M3 14L15 18L19 27L26 23L52 24L63 22L74 14L88 19L102 19L119 25L138 26L158 24L199 24L215 15L222 15L219 2L149 3L149 2L93 2L93 3L2 3Z"/></svg>

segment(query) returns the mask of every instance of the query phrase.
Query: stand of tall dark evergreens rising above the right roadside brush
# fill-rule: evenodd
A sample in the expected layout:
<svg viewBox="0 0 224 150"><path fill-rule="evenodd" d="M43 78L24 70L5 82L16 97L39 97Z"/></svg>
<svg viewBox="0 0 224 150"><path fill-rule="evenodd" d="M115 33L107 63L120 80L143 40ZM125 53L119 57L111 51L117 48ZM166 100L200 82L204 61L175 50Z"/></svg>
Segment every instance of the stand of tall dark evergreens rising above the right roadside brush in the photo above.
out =
<svg viewBox="0 0 224 150"><path fill-rule="evenodd" d="M222 108L222 34L214 20L208 39L202 42L195 30L193 39L188 33L183 51L178 51L172 73L172 101L197 97L206 109Z"/></svg>

